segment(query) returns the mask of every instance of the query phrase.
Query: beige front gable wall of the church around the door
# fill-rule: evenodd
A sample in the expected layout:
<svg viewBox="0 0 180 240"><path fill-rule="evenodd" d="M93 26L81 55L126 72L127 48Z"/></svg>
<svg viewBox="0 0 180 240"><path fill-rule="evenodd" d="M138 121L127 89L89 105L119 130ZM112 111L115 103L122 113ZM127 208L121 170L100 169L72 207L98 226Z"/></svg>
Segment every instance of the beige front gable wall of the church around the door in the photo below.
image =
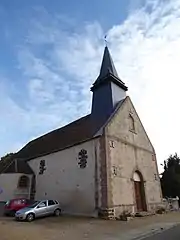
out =
<svg viewBox="0 0 180 240"><path fill-rule="evenodd" d="M129 130L129 112L135 120L135 133ZM148 210L160 204L162 196L155 152L129 97L106 127L106 137L111 204L117 208L117 211L122 211L125 206L133 211L136 210L132 181L135 170L142 173L145 181Z"/></svg>

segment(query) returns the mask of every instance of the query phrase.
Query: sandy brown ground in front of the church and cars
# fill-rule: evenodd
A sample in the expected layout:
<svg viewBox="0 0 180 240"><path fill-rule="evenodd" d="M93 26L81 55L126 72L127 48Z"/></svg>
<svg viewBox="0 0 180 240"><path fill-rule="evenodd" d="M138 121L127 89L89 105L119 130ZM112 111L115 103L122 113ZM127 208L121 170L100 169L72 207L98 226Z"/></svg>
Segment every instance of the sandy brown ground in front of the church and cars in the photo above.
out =
<svg viewBox="0 0 180 240"><path fill-rule="evenodd" d="M62 216L26 223L0 217L0 240L130 240L134 237L139 240L146 234L162 231L161 228L166 229L179 222L180 212L130 222Z"/></svg>

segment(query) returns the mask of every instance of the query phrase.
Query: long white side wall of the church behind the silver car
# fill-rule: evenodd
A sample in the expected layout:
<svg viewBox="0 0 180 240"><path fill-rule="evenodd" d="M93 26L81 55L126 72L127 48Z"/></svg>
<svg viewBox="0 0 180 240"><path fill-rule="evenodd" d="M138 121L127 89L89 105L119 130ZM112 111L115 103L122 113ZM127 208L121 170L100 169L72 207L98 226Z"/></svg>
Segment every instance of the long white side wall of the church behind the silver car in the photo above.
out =
<svg viewBox="0 0 180 240"><path fill-rule="evenodd" d="M87 150L87 167L78 165L78 153ZM46 171L39 175L45 160ZM66 213L95 215L95 140L39 157L29 162L36 175L36 199L57 199Z"/></svg>

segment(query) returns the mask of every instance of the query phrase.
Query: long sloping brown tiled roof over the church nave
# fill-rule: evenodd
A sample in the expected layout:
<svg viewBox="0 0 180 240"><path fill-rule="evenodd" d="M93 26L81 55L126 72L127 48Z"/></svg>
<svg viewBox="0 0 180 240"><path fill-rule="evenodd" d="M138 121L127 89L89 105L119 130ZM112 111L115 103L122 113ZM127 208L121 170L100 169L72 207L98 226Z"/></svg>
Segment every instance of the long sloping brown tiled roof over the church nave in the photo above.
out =
<svg viewBox="0 0 180 240"><path fill-rule="evenodd" d="M93 138L95 128L92 126L90 116L82 117L32 140L16 154L16 158L33 159Z"/></svg>

